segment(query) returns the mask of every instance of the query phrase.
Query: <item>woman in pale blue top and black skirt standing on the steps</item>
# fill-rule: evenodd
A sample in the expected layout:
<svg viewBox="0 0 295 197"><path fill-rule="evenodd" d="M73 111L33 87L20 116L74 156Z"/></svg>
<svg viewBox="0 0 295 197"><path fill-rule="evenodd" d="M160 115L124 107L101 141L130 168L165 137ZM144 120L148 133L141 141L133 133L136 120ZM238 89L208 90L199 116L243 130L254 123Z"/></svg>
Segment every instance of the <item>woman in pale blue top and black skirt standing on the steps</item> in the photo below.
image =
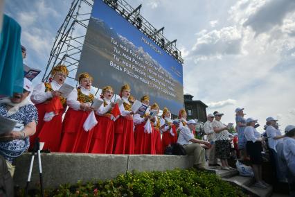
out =
<svg viewBox="0 0 295 197"><path fill-rule="evenodd" d="M254 128L257 119L249 118L246 120L247 127L244 130L245 138L247 139L247 153L250 155L250 160L254 172L256 183L254 186L267 188L267 184L262 180L262 139L260 132Z"/></svg>

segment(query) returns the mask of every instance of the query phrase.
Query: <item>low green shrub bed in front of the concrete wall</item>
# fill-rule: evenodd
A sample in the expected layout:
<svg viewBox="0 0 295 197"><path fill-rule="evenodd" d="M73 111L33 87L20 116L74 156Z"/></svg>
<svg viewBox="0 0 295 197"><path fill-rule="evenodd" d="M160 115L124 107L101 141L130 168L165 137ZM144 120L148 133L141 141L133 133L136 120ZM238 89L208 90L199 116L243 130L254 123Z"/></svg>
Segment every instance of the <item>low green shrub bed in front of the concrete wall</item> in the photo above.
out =
<svg viewBox="0 0 295 197"><path fill-rule="evenodd" d="M35 193L37 194L37 192ZM37 194L38 196L38 194ZM46 196L246 196L212 173L194 169L132 172L114 180L61 185Z"/></svg>

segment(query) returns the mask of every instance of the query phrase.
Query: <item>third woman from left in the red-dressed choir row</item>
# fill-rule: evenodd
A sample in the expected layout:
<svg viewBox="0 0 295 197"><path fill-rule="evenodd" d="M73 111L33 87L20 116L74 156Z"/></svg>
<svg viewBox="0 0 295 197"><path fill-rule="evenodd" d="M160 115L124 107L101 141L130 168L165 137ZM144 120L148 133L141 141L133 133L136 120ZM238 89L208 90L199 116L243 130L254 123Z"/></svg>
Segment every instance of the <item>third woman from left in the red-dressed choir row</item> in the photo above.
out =
<svg viewBox="0 0 295 197"><path fill-rule="evenodd" d="M103 103L96 111L98 124L93 128L91 146L89 153L113 153L114 147L114 121L112 120L111 110L116 103L111 102L114 90L111 86L102 89Z"/></svg>

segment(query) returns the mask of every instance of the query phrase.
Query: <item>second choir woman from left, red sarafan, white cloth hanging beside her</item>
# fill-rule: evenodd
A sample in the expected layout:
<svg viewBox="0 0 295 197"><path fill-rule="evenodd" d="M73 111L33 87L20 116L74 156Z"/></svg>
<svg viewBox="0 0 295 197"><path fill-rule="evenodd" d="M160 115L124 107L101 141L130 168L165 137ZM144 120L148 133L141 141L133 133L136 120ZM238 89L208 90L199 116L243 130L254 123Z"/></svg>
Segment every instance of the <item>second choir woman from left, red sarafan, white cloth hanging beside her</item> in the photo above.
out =
<svg viewBox="0 0 295 197"><path fill-rule="evenodd" d="M69 109L64 116L60 152L88 153L93 129L85 131L84 122L93 110L94 95L90 93L93 78L87 74L79 75L80 86L66 99Z"/></svg>

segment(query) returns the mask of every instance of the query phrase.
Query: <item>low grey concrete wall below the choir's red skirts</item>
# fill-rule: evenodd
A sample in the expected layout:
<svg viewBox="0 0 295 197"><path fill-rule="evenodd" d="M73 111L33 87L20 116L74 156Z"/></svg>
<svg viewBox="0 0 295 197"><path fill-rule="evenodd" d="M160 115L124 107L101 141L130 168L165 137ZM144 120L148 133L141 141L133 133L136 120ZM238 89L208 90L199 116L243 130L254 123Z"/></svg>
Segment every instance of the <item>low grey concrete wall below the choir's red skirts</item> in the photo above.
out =
<svg viewBox="0 0 295 197"><path fill-rule="evenodd" d="M16 160L15 185L24 188L28 179L31 154ZM44 188L75 184L78 180L109 180L126 171L166 171L193 166L193 156L105 155L84 153L42 153ZM38 160L35 156L30 188L39 187Z"/></svg>

